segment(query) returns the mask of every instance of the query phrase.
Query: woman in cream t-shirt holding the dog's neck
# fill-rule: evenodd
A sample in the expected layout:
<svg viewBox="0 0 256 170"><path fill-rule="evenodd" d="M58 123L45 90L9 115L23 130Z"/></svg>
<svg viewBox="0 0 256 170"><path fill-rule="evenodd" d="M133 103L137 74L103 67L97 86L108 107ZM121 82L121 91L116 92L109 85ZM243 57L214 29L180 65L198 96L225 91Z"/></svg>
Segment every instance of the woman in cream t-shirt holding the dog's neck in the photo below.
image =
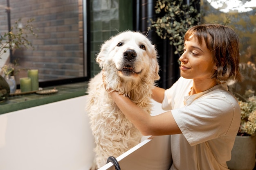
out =
<svg viewBox="0 0 256 170"><path fill-rule="evenodd" d="M153 99L168 110L158 116L107 91L143 135L171 135L171 170L227 170L240 125L240 107L226 83L242 79L238 36L220 24L193 26L180 61L179 80L167 90L153 89Z"/></svg>

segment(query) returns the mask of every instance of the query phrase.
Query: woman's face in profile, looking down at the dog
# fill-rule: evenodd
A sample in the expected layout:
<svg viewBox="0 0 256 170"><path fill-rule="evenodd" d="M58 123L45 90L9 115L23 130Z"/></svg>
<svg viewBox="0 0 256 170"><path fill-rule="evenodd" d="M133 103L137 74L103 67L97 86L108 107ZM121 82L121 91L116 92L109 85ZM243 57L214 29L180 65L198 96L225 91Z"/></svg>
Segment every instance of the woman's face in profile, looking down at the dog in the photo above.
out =
<svg viewBox="0 0 256 170"><path fill-rule="evenodd" d="M184 53L180 57L181 76L188 79L204 80L211 78L217 70L211 51L206 47L205 41L199 45L197 39L190 37L184 43Z"/></svg>

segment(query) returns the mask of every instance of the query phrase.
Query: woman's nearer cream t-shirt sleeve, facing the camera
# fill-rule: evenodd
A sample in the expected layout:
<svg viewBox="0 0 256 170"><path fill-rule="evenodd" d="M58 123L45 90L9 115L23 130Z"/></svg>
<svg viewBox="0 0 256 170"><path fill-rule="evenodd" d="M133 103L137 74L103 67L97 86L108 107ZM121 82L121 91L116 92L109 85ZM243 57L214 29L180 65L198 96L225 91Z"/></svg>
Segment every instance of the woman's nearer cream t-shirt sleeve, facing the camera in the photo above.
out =
<svg viewBox="0 0 256 170"><path fill-rule="evenodd" d="M239 105L227 95L198 98L189 106L172 110L172 114L191 146L225 135L234 121L240 124Z"/></svg>

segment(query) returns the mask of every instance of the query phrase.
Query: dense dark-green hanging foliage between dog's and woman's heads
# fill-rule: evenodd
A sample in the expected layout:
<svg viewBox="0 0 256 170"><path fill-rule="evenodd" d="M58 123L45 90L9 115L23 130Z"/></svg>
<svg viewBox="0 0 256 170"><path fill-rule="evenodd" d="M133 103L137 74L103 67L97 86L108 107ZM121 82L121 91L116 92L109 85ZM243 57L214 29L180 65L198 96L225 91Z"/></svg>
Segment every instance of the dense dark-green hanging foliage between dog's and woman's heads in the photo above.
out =
<svg viewBox="0 0 256 170"><path fill-rule="evenodd" d="M170 44L176 48L175 54L180 55L183 51L186 31L200 23L201 15L193 4L195 0L190 0L189 5L184 4L183 0L157 0L155 13L164 13L164 16L156 21L151 20L150 28L155 28L161 39L170 40Z"/></svg>

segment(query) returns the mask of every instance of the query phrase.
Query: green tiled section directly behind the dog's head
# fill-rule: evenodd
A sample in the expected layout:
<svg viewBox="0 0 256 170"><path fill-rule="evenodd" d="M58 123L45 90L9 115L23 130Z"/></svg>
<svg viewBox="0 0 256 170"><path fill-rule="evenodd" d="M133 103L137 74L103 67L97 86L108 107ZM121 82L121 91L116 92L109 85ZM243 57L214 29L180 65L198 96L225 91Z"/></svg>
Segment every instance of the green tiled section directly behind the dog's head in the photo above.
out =
<svg viewBox="0 0 256 170"><path fill-rule="evenodd" d="M133 28L131 0L90 0L90 71L94 77L101 70L95 58L101 44L121 31Z"/></svg>

